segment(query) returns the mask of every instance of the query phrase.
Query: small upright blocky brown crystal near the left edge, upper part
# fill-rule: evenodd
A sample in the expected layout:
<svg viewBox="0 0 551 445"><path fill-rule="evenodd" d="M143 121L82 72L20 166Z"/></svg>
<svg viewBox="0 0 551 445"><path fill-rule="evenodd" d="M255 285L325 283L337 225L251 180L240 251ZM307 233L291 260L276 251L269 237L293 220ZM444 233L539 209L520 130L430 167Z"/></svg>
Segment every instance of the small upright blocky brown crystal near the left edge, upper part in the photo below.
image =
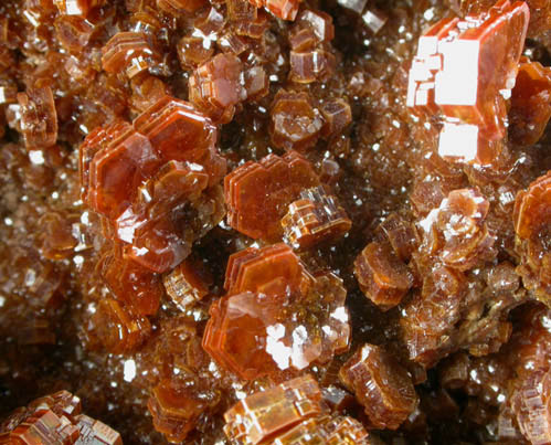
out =
<svg viewBox="0 0 551 445"><path fill-rule="evenodd" d="M27 148L46 148L57 139L57 113L55 110L52 89L28 88L18 94L21 106L20 129L23 134Z"/></svg>

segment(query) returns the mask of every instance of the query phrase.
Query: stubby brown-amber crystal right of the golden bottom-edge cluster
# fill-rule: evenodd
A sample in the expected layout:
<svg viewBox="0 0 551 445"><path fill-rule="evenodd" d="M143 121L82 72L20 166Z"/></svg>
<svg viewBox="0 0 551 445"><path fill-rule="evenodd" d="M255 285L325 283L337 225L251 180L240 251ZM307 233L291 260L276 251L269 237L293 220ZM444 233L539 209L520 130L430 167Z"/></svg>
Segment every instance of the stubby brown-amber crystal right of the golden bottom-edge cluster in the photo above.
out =
<svg viewBox="0 0 551 445"><path fill-rule="evenodd" d="M375 428L396 430L418 403L407 371L378 346L367 343L356 351L339 378L354 391Z"/></svg>

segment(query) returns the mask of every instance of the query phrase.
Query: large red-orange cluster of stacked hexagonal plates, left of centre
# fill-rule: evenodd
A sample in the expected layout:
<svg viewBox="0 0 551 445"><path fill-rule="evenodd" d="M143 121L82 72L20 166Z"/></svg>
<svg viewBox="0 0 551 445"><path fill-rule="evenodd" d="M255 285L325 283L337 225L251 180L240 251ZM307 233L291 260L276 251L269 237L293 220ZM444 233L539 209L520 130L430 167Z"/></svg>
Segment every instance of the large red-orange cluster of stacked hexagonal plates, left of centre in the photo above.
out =
<svg viewBox="0 0 551 445"><path fill-rule="evenodd" d="M173 268L218 224L225 161L216 128L190 104L163 97L138 116L92 133L81 146L83 198L105 218L106 237L155 273ZM210 208L201 212L198 209Z"/></svg>

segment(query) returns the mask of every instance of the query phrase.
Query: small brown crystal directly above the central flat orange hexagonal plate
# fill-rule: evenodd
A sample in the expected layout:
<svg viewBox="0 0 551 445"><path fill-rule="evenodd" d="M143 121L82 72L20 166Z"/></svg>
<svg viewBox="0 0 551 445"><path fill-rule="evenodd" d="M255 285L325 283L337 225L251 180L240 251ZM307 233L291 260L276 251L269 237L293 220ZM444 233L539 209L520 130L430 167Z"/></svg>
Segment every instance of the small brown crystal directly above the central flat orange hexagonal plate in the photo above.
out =
<svg viewBox="0 0 551 445"><path fill-rule="evenodd" d="M277 92L269 112L269 135L276 147L306 149L319 138L324 120L308 93Z"/></svg>

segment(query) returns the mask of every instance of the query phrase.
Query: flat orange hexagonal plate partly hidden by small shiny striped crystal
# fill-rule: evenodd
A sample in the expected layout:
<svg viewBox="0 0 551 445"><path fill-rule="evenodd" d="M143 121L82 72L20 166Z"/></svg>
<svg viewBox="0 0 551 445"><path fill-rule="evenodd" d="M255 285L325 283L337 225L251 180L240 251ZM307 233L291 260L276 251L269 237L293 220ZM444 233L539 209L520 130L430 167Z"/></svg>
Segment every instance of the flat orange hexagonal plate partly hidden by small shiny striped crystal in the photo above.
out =
<svg viewBox="0 0 551 445"><path fill-rule="evenodd" d="M311 163L296 151L246 162L224 178L227 223L253 239L280 239L287 205L318 184Z"/></svg>

